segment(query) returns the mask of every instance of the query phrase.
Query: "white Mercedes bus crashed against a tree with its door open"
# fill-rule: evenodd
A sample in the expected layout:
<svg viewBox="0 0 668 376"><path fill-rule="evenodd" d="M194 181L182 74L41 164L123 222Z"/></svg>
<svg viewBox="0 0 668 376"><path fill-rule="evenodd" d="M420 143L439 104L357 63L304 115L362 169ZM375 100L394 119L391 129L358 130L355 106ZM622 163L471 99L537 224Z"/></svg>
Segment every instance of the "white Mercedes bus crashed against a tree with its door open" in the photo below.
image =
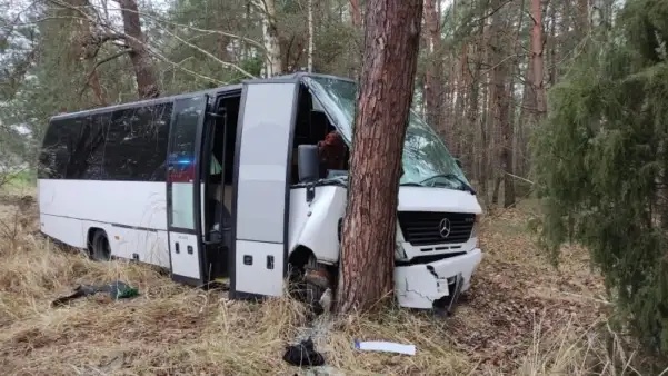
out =
<svg viewBox="0 0 668 376"><path fill-rule="evenodd" d="M189 285L229 278L231 298L281 296L290 279L321 290L303 274L336 278L348 158L322 172L317 145L330 131L350 145L356 90L300 72L56 116L39 157L41 231ZM481 208L415 113L402 162L396 296L432 308L470 286Z"/></svg>

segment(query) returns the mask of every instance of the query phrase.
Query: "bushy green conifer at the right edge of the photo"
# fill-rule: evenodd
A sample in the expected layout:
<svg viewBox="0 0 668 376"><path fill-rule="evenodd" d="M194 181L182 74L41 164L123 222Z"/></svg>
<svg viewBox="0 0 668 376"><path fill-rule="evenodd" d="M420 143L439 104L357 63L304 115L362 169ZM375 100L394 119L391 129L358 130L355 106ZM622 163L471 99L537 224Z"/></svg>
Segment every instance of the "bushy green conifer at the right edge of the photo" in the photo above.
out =
<svg viewBox="0 0 668 376"><path fill-rule="evenodd" d="M585 245L621 317L668 353L668 2L629 0L549 92L534 142L544 245Z"/></svg>

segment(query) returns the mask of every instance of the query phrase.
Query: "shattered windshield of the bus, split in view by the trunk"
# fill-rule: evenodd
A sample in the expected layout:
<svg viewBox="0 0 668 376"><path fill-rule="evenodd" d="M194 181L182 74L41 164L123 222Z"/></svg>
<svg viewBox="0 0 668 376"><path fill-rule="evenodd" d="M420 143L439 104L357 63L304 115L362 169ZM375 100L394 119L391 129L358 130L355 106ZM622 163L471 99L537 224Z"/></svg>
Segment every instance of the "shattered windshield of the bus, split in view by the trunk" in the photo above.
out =
<svg viewBox="0 0 668 376"><path fill-rule="evenodd" d="M356 83L318 76L307 77L305 82L350 145L357 105ZM406 130L402 165L401 185L438 186L472 191L463 171L448 152L443 141L412 110Z"/></svg>

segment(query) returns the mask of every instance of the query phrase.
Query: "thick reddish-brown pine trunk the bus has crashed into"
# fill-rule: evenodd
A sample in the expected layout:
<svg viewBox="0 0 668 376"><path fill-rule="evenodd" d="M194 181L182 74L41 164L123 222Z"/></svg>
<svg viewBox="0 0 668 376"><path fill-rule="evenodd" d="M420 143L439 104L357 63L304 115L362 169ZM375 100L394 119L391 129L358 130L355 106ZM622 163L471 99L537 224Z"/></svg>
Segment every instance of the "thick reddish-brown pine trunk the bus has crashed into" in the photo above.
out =
<svg viewBox="0 0 668 376"><path fill-rule="evenodd" d="M393 289L401 155L421 14L422 0L367 1L363 71L337 288L340 313L370 308Z"/></svg>

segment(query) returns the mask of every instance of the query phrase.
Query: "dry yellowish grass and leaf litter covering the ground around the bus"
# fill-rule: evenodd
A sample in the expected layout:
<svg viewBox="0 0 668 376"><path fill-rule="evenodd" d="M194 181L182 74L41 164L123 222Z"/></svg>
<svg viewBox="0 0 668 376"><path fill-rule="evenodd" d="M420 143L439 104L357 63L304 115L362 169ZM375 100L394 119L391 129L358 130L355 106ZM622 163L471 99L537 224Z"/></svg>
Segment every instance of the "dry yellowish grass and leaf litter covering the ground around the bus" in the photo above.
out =
<svg viewBox="0 0 668 376"><path fill-rule="evenodd" d="M157 270L92 263L57 249L36 231L34 208L0 200L0 374L2 375L293 375L285 346L305 325L290 299L230 301L221 291L171 283ZM17 214L18 211L18 214ZM449 319L391 309L339 319L316 338L335 374L620 375L630 356L606 350L605 304L586 253L567 249L549 267L522 229L524 210L483 228L486 258ZM78 284L121 279L141 296L50 303ZM611 333L611 332L608 332ZM416 356L359 353L355 339L417 345ZM632 360L632 359L631 359ZM626 369L625 369L626 367Z"/></svg>

